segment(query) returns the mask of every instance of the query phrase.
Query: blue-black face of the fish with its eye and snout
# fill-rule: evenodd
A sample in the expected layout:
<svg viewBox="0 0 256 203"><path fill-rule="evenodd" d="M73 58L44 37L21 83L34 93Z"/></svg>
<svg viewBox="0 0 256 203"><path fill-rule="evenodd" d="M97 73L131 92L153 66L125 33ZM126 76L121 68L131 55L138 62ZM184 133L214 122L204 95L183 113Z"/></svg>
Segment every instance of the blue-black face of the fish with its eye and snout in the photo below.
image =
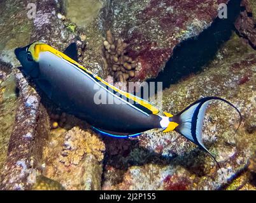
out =
<svg viewBox="0 0 256 203"><path fill-rule="evenodd" d="M38 77L39 75L39 65L38 62L34 60L33 53L31 51L31 48L33 48L33 44L34 43L29 44L23 48L15 49L16 58L20 61L22 65L22 72L24 72L26 76L30 76L32 78Z"/></svg>

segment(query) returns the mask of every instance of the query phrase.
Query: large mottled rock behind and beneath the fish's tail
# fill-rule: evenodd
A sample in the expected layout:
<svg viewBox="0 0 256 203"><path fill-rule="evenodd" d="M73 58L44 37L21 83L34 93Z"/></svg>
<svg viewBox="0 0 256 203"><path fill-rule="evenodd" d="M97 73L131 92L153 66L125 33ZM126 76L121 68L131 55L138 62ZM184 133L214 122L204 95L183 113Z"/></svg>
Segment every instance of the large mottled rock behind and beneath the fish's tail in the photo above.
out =
<svg viewBox="0 0 256 203"><path fill-rule="evenodd" d="M202 96L226 98L241 110L244 120L237 134L239 116L225 103L211 104L204 119L204 143L222 168L178 133L152 130L133 138L138 143L125 157L110 157L104 190L216 190L246 171L256 148L256 131L248 131L256 122L256 51L242 41L234 34L204 72L163 92L162 109L173 114Z"/></svg>

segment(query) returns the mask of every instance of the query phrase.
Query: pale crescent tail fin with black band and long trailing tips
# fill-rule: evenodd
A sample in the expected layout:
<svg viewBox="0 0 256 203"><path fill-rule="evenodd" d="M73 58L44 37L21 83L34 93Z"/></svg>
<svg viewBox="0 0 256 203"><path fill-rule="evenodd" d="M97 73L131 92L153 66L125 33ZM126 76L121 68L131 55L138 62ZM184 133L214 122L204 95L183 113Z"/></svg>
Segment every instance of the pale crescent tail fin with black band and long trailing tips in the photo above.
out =
<svg viewBox="0 0 256 203"><path fill-rule="evenodd" d="M208 154L211 155L211 157L215 160L215 162L217 162L215 157L204 146L203 138L202 138L204 114L206 112L206 108L208 107L209 103L214 100L224 101L228 105L231 105L231 107L235 108L240 116L239 126L241 125L242 115L239 112L238 108L232 105L232 103L230 103L229 101L224 100L222 98L215 97L215 96L202 98L201 100L198 100L192 103L187 108L185 108L182 112L175 115L171 119L173 119L173 121L179 124L179 126L175 128L175 131L185 136L185 138L195 143L204 151L208 152ZM238 128L236 129L236 131L238 131ZM218 166L220 167L219 164Z"/></svg>

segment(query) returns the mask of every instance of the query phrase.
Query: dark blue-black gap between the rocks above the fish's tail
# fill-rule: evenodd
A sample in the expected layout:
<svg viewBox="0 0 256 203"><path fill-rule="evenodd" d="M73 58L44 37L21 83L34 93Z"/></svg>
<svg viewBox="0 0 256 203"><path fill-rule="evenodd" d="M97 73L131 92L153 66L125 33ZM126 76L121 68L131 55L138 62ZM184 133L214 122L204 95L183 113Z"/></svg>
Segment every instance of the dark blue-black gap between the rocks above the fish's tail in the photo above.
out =
<svg viewBox="0 0 256 203"><path fill-rule="evenodd" d="M236 30L234 22L240 11L241 0L231 0L227 4L227 19L216 18L211 26L199 36L180 43L174 49L164 70L155 79L146 82L162 82L163 89L169 88L182 77L200 72L215 57L220 46L228 41L232 31Z"/></svg>

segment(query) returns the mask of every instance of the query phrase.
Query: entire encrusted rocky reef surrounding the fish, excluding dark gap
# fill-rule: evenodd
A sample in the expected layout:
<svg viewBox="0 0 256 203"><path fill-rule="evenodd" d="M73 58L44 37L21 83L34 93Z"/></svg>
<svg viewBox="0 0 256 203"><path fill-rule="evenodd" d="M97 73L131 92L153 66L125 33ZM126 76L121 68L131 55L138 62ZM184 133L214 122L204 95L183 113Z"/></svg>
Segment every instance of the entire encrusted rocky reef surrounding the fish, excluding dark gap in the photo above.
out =
<svg viewBox="0 0 256 203"><path fill-rule="evenodd" d="M16 69L13 54L38 40L60 51L75 42L79 62L94 74L106 77L104 62L115 85L144 81L160 72L181 41L209 27L218 4L227 1L103 1L86 23L69 19L64 10L70 8L62 7L70 4L63 2L31 0L37 12L28 19L27 0L0 1L0 58L15 67L12 72L0 62L0 189L255 190L256 53L235 34L202 73L174 84L163 97L163 110L173 114L210 95L241 110L244 121L236 135L238 117L225 104L213 103L206 114L203 139L221 169L177 133L153 130L131 140L103 138L103 143L85 121L44 103ZM236 28L253 45L255 3L244 0L243 6ZM104 37L107 30L113 36L108 31Z"/></svg>

